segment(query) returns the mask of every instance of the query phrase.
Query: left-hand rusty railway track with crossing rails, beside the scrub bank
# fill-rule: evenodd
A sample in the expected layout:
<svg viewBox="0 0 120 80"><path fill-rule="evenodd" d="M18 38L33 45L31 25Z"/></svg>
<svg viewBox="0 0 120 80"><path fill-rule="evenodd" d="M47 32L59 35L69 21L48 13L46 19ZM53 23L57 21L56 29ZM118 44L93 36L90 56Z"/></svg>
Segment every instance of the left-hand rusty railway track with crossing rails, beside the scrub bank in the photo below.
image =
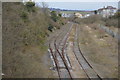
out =
<svg viewBox="0 0 120 80"><path fill-rule="evenodd" d="M64 28L63 28L63 30L64 30ZM50 42L50 44L49 44L50 53L52 54L52 57L54 60L53 63L57 69L59 78L72 78L69 68L68 68L68 65L67 65L67 61L63 55L64 54L63 48L61 49L62 53L60 52L60 45L65 46L65 43L62 43L62 42L66 41L66 39L67 39L66 36L68 36L69 32L70 32L70 28L68 27L65 32L62 32L62 34L58 33L58 35L53 36L53 38L51 39L52 42ZM57 56L57 57L55 57L55 56ZM59 62L57 62L58 59L59 59ZM65 69L61 69L61 68L65 68Z"/></svg>

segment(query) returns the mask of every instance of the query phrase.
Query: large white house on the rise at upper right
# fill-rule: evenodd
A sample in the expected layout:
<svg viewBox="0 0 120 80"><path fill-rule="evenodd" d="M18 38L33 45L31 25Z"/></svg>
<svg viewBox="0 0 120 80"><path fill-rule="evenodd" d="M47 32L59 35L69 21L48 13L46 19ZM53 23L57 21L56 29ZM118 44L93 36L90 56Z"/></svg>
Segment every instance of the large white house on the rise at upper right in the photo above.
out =
<svg viewBox="0 0 120 80"><path fill-rule="evenodd" d="M97 10L97 14L106 18L108 18L109 16L113 16L116 12L117 12L117 8L112 6L107 6Z"/></svg>

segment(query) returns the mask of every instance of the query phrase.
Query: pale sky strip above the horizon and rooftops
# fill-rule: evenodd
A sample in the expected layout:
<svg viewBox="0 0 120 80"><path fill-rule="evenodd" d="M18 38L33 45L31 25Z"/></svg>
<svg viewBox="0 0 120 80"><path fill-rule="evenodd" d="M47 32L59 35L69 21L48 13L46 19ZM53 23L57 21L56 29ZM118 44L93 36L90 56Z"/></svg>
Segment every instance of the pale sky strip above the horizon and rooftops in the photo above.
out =
<svg viewBox="0 0 120 80"><path fill-rule="evenodd" d="M97 10L104 6L118 8L119 0L34 0L46 2L49 8L72 9L72 10Z"/></svg>

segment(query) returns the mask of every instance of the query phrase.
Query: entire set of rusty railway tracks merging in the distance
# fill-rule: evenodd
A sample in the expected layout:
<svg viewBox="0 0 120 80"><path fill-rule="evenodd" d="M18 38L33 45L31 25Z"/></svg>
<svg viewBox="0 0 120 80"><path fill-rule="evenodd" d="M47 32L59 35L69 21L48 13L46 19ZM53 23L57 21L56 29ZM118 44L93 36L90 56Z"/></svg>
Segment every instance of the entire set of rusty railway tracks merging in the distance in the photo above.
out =
<svg viewBox="0 0 120 80"><path fill-rule="evenodd" d="M85 73L88 79L92 80L93 78L97 78L99 80L102 80L100 75L97 74L97 72L93 69L92 65L88 62L88 60L85 58L85 56L80 50L78 38L79 27L77 26L77 24L74 23L69 23L68 27L62 28L61 31L54 35L50 40L49 53L53 61L53 69L56 70L59 79L70 78L71 80L73 80L73 75L75 74L73 73L74 71L72 66L74 65L71 65L71 57L68 56L68 54L70 53L67 53L66 50L68 38L73 28L75 28L73 40L73 53L76 58L76 63L79 63L79 66L82 68L83 72Z"/></svg>

